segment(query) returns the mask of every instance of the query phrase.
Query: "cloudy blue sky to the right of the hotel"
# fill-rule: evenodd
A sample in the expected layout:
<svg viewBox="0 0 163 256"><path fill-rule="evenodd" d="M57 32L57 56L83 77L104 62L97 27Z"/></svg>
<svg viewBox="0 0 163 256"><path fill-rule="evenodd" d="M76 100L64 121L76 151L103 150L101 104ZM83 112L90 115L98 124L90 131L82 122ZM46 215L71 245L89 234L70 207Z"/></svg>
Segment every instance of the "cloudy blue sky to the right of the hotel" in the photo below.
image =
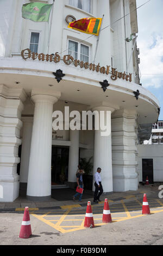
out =
<svg viewBox="0 0 163 256"><path fill-rule="evenodd" d="M139 7L147 0L136 0ZM140 83L160 102L159 120L163 120L163 0L151 0L137 9L140 49Z"/></svg>

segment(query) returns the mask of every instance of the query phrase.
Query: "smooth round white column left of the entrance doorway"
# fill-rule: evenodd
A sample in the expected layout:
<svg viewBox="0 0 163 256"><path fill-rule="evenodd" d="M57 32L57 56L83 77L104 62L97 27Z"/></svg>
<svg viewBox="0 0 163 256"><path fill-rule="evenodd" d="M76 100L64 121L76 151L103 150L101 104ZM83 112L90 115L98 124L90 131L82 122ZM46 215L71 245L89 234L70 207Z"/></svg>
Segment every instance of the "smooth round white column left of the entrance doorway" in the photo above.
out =
<svg viewBox="0 0 163 256"><path fill-rule="evenodd" d="M45 200L51 197L52 113L58 98L33 95L35 103L28 170L27 198Z"/></svg>

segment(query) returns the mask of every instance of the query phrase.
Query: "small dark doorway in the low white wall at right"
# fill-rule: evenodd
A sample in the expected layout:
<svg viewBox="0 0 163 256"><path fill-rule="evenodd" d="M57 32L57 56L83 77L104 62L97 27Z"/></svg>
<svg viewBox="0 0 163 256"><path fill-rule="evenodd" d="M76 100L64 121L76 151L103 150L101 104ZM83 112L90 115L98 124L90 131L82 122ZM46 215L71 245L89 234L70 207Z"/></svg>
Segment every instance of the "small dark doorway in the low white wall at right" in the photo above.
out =
<svg viewBox="0 0 163 256"><path fill-rule="evenodd" d="M148 176L149 183L153 184L153 159L142 159L142 181L146 181Z"/></svg>

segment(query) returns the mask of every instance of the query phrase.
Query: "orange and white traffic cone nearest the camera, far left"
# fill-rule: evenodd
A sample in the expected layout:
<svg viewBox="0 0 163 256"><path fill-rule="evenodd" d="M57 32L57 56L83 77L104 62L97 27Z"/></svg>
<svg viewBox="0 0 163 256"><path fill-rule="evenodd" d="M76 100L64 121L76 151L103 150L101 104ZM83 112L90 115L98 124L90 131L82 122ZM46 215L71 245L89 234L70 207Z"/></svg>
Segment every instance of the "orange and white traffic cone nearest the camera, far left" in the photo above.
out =
<svg viewBox="0 0 163 256"><path fill-rule="evenodd" d="M30 227L29 211L28 211L28 207L26 207L24 210L24 216L23 216L19 237L29 238L30 235L32 235L32 231Z"/></svg>

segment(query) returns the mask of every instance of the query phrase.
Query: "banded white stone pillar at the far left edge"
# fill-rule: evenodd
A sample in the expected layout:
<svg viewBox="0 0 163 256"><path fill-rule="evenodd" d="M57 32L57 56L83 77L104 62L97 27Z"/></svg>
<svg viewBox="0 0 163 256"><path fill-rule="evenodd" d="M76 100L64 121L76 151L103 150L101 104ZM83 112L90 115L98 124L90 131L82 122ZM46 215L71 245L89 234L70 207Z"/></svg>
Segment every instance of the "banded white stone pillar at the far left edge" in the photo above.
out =
<svg viewBox="0 0 163 256"><path fill-rule="evenodd" d="M0 201L12 202L19 195L17 164L21 145L21 112L26 92L19 87L0 85Z"/></svg>

